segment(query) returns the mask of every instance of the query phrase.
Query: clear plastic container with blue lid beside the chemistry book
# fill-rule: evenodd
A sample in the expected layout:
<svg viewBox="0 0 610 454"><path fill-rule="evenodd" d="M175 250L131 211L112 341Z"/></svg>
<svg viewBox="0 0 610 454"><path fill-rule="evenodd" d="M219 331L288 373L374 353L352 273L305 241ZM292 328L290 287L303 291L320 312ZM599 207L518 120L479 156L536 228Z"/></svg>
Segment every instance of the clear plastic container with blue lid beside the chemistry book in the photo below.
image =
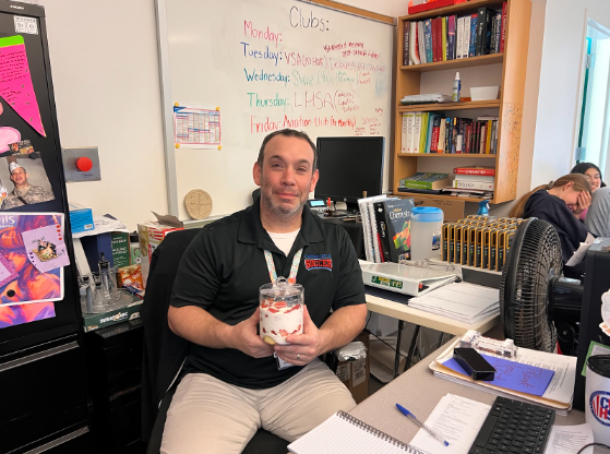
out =
<svg viewBox="0 0 610 454"><path fill-rule="evenodd" d="M443 211L434 206L411 210L411 261L441 255Z"/></svg>

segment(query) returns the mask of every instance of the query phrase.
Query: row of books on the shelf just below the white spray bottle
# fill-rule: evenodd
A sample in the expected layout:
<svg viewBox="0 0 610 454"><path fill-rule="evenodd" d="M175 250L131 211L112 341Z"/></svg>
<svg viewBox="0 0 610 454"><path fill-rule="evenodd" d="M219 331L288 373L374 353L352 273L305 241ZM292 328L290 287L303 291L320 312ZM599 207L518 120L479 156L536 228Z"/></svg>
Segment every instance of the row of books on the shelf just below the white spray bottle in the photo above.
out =
<svg viewBox="0 0 610 454"><path fill-rule="evenodd" d="M400 153L498 153L498 117L446 117L404 112Z"/></svg>

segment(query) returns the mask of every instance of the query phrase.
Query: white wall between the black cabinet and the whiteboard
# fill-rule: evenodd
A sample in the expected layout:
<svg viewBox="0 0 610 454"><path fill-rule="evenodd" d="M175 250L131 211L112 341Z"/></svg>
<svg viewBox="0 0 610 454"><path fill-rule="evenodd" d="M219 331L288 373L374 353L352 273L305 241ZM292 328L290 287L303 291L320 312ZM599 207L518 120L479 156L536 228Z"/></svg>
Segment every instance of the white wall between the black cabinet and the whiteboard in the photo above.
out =
<svg viewBox="0 0 610 454"><path fill-rule="evenodd" d="M68 198L134 229L167 211L153 0L39 0L61 145L99 147L101 181Z"/></svg>

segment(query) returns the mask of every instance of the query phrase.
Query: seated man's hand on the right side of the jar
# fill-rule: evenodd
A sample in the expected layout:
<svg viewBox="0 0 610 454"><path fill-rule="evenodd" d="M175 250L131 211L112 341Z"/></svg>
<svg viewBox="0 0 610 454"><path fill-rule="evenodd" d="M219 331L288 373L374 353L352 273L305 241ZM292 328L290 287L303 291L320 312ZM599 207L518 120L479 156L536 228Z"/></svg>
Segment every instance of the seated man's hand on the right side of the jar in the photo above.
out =
<svg viewBox="0 0 610 454"><path fill-rule="evenodd" d="M295 366L306 366L325 353L323 335L311 320L307 306L303 306L303 334L290 334L286 342L290 345L275 345L275 353Z"/></svg>

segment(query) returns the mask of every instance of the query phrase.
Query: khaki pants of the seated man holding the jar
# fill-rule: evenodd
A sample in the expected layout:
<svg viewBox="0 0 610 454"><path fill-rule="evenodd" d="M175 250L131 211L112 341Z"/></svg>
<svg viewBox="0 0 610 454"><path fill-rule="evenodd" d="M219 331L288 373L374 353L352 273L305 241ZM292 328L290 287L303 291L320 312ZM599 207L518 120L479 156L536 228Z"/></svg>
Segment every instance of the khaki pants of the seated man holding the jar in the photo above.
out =
<svg viewBox="0 0 610 454"><path fill-rule="evenodd" d="M319 359L290 380L248 390L205 373L190 373L167 411L162 453L240 453L259 428L295 441L356 402Z"/></svg>

